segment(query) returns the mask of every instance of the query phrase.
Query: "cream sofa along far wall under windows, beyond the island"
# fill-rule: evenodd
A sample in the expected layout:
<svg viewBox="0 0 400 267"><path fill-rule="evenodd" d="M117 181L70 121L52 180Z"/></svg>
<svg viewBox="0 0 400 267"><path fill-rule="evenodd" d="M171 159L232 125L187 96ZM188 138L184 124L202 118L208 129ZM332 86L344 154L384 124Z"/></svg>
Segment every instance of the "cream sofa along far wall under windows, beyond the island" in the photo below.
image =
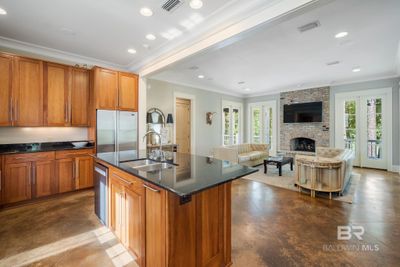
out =
<svg viewBox="0 0 400 267"><path fill-rule="evenodd" d="M214 148L216 159L228 160L246 166L260 165L268 156L267 144L239 144Z"/></svg>

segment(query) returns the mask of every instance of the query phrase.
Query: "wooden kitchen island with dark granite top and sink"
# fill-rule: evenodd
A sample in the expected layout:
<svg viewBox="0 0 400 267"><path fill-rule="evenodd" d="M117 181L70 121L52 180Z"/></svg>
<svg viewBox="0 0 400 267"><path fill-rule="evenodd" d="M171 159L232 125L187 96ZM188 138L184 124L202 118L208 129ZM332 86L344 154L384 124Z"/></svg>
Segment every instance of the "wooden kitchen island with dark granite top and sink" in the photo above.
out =
<svg viewBox="0 0 400 267"><path fill-rule="evenodd" d="M107 226L138 265L230 266L231 182L257 170L180 153L169 164L143 158L95 155L109 170Z"/></svg>

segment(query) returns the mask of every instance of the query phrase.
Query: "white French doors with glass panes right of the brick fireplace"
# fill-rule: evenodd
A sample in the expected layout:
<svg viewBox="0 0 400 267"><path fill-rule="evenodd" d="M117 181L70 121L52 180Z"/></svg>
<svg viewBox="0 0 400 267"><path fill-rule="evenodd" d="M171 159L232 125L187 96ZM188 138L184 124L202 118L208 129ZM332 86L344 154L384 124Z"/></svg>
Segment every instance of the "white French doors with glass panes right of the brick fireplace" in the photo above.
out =
<svg viewBox="0 0 400 267"><path fill-rule="evenodd" d="M336 147L354 151L354 165L388 169L391 98L379 90L336 97ZM390 167L390 166L389 166Z"/></svg>

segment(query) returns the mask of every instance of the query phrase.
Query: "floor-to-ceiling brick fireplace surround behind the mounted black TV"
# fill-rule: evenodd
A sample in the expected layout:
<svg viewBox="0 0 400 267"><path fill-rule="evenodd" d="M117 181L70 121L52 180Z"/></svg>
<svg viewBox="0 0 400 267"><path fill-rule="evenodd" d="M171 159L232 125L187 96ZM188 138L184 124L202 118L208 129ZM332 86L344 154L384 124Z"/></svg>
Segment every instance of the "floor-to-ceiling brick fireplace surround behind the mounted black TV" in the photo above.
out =
<svg viewBox="0 0 400 267"><path fill-rule="evenodd" d="M281 152L314 153L318 146L329 147L329 87L312 88L280 95ZM322 102L322 122L284 123L283 106L293 103Z"/></svg>

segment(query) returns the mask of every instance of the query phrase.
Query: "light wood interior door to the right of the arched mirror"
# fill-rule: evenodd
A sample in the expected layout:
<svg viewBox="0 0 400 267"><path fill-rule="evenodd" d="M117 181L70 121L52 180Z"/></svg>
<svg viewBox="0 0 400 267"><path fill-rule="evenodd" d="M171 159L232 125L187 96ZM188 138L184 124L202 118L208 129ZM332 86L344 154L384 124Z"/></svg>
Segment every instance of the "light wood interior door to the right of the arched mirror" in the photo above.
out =
<svg viewBox="0 0 400 267"><path fill-rule="evenodd" d="M191 151L191 100L184 98L176 98L175 114L176 114L176 144L178 152L188 153Z"/></svg>

